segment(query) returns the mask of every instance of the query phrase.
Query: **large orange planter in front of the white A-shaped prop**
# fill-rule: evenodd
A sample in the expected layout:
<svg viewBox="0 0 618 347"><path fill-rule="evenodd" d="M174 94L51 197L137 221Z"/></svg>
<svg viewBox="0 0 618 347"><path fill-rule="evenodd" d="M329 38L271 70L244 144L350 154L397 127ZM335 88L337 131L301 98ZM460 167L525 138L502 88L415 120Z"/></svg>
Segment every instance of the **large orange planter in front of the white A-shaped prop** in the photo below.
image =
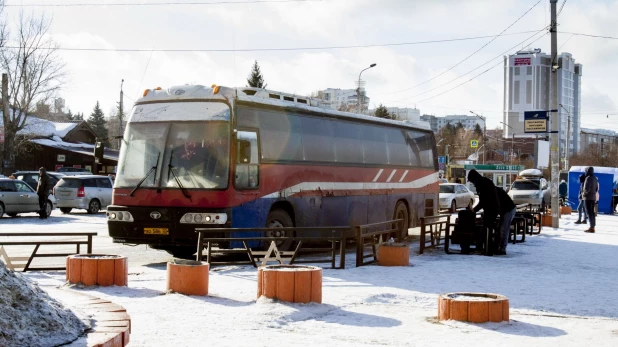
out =
<svg viewBox="0 0 618 347"><path fill-rule="evenodd" d="M269 265L258 269L258 299L265 296L287 302L322 303L322 268Z"/></svg>

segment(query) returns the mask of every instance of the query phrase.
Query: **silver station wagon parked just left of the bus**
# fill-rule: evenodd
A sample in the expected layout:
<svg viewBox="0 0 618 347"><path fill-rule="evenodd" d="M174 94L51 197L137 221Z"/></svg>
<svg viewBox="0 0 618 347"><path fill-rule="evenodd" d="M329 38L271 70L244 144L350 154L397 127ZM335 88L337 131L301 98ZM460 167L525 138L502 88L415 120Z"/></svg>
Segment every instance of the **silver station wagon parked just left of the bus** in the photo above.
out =
<svg viewBox="0 0 618 347"><path fill-rule="evenodd" d="M62 213L84 209L97 213L112 203L112 180L108 176L64 176L54 189Z"/></svg>

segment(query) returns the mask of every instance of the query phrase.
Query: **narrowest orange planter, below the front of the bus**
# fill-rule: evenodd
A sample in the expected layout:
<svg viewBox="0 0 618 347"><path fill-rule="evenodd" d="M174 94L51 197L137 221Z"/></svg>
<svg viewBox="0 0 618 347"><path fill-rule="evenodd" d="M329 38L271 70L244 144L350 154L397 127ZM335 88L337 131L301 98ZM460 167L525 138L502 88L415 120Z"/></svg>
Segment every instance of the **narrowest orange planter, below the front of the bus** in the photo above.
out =
<svg viewBox="0 0 618 347"><path fill-rule="evenodd" d="M208 271L210 264L175 259L167 263L167 292L185 295L208 295Z"/></svg>

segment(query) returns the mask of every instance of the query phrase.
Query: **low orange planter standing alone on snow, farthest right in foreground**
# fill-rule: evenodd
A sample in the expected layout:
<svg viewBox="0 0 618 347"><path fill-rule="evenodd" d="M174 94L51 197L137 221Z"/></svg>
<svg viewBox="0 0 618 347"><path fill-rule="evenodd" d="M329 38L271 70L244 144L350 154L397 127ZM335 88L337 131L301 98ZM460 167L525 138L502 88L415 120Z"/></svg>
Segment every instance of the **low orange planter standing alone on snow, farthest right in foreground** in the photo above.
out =
<svg viewBox="0 0 618 347"><path fill-rule="evenodd" d="M448 293L438 298L438 319L485 323L509 321L509 299L486 293Z"/></svg>

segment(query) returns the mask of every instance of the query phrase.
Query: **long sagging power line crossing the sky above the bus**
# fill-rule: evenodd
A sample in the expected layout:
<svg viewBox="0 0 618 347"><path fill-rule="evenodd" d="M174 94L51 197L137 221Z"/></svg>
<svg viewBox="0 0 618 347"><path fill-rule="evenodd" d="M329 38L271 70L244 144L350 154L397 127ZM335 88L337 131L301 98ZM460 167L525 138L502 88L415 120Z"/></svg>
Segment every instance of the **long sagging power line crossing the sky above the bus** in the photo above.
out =
<svg viewBox="0 0 618 347"><path fill-rule="evenodd" d="M507 35L520 35L536 32L535 30L521 31L517 33L506 34ZM147 49L147 48L68 48L68 47L41 47L40 49L58 50L58 51L84 51L84 52L268 52L268 51L311 51L311 50L327 50L327 49L352 49L352 48L371 48L371 47L392 47L392 46L410 46L410 45L423 45L433 43L447 43L457 41L470 41L485 38L496 38L500 35L487 35L487 36L472 36L461 37L454 39L442 39L442 40L429 40L429 41L413 41L413 42L398 42L398 43L378 43L371 45L349 45L349 46L322 46L322 47L271 47L271 48L215 48L215 49ZM23 47L18 46L5 46L9 49L20 49Z"/></svg>

